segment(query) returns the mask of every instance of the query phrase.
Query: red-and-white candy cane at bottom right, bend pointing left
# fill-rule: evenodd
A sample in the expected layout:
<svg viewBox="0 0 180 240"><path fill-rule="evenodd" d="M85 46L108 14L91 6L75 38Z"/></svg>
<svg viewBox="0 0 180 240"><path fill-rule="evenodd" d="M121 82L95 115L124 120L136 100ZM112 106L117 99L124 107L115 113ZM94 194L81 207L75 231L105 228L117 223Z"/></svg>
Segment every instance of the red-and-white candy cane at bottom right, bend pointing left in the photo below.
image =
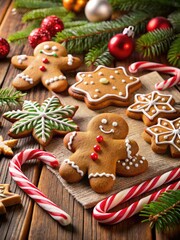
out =
<svg viewBox="0 0 180 240"><path fill-rule="evenodd" d="M170 189L171 190L180 189L180 181L173 183L168 187L163 188L160 191L155 192L145 198L142 198L137 202L134 202L127 208L121 209L117 212L108 213L110 209L112 209L113 207L117 206L122 202L127 201L132 197L139 196L144 192L148 192L154 188L157 188L165 183L168 183L178 178L180 178L180 168L176 168L172 171L162 174L161 176L157 176L151 180L147 180L139 185L133 186L117 194L114 194L102 200L95 206L93 210L93 216L97 221L104 224L119 223L122 220L129 218L136 214L137 212L141 211L144 204L156 200L162 192L165 192Z"/></svg>

